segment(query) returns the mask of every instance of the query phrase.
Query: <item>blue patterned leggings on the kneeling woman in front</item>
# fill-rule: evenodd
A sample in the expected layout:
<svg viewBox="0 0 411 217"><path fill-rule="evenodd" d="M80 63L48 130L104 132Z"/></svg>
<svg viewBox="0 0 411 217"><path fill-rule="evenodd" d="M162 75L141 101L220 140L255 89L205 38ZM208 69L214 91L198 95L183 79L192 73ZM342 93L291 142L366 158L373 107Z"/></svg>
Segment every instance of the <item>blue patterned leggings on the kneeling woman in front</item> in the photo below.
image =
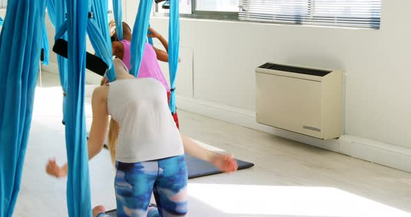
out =
<svg viewBox="0 0 411 217"><path fill-rule="evenodd" d="M117 216L173 217L187 214L184 155L139 163L117 162ZM148 205L154 194L157 209ZM98 217L108 216L100 214Z"/></svg>

